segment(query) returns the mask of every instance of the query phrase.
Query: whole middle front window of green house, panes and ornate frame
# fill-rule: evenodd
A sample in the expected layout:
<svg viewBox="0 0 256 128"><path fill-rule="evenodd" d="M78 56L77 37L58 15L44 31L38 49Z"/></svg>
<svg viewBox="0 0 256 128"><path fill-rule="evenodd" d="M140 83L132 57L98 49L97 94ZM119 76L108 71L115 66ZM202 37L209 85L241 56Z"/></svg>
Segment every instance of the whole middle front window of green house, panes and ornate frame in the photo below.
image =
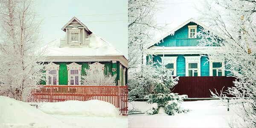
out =
<svg viewBox="0 0 256 128"><path fill-rule="evenodd" d="M81 67L75 62L67 65L68 85L81 85Z"/></svg>

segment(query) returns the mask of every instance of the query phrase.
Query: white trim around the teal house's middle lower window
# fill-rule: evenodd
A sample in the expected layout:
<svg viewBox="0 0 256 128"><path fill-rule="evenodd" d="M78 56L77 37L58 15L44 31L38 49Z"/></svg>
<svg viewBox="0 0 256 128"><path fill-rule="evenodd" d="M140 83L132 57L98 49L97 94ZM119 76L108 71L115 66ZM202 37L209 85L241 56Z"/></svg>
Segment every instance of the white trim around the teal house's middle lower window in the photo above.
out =
<svg viewBox="0 0 256 128"><path fill-rule="evenodd" d="M185 57L185 72L189 76L189 63L198 63L198 76L201 76L201 56L184 56Z"/></svg>

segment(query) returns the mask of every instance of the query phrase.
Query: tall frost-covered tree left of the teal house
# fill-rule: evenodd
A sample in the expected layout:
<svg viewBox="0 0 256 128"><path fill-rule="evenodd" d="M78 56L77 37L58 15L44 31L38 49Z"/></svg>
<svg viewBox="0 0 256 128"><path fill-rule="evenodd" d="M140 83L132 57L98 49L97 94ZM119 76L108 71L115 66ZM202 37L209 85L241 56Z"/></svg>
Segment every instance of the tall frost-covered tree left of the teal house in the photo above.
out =
<svg viewBox="0 0 256 128"><path fill-rule="evenodd" d="M130 96L145 96L152 90L154 71L145 64L143 48L154 41L155 32L162 31L154 17L161 0L128 0L128 86ZM136 94L137 93L137 94Z"/></svg>

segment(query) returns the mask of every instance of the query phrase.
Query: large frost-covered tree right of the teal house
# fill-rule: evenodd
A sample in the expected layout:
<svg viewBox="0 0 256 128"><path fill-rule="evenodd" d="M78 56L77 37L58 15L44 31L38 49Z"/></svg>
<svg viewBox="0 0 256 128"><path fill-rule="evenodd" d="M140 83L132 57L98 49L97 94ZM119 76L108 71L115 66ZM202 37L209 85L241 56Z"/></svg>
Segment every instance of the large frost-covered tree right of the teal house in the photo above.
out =
<svg viewBox="0 0 256 128"><path fill-rule="evenodd" d="M226 70L237 78L227 94L236 100L236 112L240 119L236 127L256 127L256 1L255 0L205 0L201 20L218 32L204 29L201 46L218 45L219 50L210 50L212 58L225 58ZM226 94L212 93L214 97ZM227 102L227 100L223 100Z"/></svg>

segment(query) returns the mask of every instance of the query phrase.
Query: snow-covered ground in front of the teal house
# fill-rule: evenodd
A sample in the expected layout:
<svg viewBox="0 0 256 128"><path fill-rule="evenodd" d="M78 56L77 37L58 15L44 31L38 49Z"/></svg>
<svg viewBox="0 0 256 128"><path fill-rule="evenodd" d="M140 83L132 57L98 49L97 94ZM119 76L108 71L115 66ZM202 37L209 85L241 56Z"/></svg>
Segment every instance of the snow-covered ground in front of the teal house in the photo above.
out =
<svg viewBox="0 0 256 128"><path fill-rule="evenodd" d="M134 106L142 112L150 109L146 102L131 102L129 109ZM204 100L183 102L183 108L191 111L177 113L174 116L166 114L135 114L128 116L129 128L229 128L228 123L236 118L233 107L227 111L227 106L221 106L219 100Z"/></svg>

